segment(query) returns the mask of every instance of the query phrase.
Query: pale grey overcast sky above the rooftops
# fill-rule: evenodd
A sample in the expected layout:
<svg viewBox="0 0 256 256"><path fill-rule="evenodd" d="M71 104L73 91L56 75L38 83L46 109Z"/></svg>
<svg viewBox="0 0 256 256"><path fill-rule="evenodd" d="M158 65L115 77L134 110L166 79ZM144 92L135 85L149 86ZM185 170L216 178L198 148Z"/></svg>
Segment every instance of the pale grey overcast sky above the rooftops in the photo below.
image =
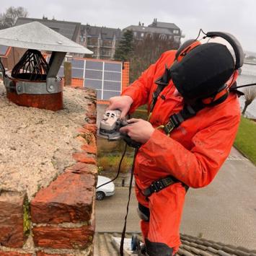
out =
<svg viewBox="0 0 256 256"><path fill-rule="evenodd" d="M226 31L244 50L256 52L256 0L1 0L0 12L23 6L28 17L66 20L123 29L138 22L175 23L185 39L198 31Z"/></svg>

